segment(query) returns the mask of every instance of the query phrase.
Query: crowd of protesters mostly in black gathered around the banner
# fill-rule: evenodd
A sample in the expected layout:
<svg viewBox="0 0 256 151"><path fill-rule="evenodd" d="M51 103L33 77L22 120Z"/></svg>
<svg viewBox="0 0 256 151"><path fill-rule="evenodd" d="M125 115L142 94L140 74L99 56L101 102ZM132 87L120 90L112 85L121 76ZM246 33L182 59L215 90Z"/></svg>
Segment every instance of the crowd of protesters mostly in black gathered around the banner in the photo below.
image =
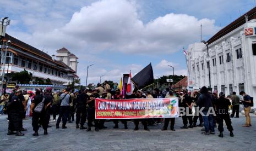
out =
<svg viewBox="0 0 256 151"><path fill-rule="evenodd" d="M23 119L25 117L32 117L32 127L34 130L33 136L39 136L39 128L42 127L44 135L47 135L47 128L49 120L52 114L53 120L56 121L56 129L59 129L61 124L62 129L67 129L67 123L73 123L75 121L76 128L86 131L91 131L91 127L95 127L95 131L106 129L104 125L106 120L95 119L95 98L106 98L114 100L122 100L124 98L172 98L177 97L179 101L179 107L183 107L189 114L192 114L192 109L202 109L203 114L197 114L198 110L195 109L194 116L182 114L183 126L181 129L192 129L193 127L203 127L201 129L204 135L215 134L215 127L218 127L220 132L219 137L223 136L224 125L227 125L230 136L233 137L233 127L230 117L239 118L239 104L243 103L244 112L246 115L246 124L244 127L252 126L250 123L250 104L252 103L252 97L245 92L240 92L243 96L241 100L236 92L233 92L231 96L225 96L224 92L217 94L217 91L211 92L203 86L200 91L194 91L193 94L187 89L182 92L172 91L166 89L160 91L154 89L154 92L136 90L130 96L123 96L121 91L117 88L117 84L111 89L111 86L105 82L104 86L97 85L97 88L91 90L89 88L81 89L79 91L72 91L70 88L66 88L63 91L57 90L52 92L52 88L46 88L45 90L36 89L35 92L20 90L17 85L12 94L3 94L1 96L0 114L6 112L8 114L8 133L7 135L23 136L22 131L26 131L23 127ZM229 108L232 104L232 114L230 116ZM41 109L39 110L39 106ZM214 114L207 114L209 109L213 109ZM185 112L186 112L185 111ZM57 118L58 115L58 118ZM76 116L76 117L74 117ZM199 119L199 123L198 123ZM88 127L85 127L86 120L88 121ZM127 119L114 119L114 129L118 129L118 121L124 124L124 129L128 129ZM133 119L134 130L139 129L139 123L144 126L144 130L149 131L149 125L157 125L164 122L162 131L167 130L169 122L170 130L175 131L175 118L165 119ZM218 126L216 126L218 124Z"/></svg>

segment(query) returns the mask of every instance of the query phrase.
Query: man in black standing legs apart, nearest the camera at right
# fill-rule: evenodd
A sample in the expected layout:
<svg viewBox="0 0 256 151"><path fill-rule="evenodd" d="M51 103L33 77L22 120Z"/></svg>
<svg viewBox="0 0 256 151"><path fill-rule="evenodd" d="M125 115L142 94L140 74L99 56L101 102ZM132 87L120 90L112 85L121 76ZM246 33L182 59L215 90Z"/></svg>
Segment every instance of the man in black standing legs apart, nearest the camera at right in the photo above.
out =
<svg viewBox="0 0 256 151"><path fill-rule="evenodd" d="M228 113L228 106L231 106L230 100L225 98L224 92L220 92L220 97L216 100L216 109L217 115L219 116L219 126L218 129L220 131L219 137L223 137L223 120L227 125L228 131L230 131L230 136L233 137L233 127L231 125L230 114Z"/></svg>

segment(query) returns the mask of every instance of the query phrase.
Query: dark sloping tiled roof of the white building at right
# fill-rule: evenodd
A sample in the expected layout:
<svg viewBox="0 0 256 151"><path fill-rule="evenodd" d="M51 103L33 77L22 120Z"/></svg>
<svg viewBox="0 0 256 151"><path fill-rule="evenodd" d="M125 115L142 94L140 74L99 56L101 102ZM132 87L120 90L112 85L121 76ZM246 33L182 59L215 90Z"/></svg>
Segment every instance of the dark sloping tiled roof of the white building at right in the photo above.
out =
<svg viewBox="0 0 256 151"><path fill-rule="evenodd" d="M225 36L227 33L235 30L237 27L242 26L244 23L246 23L245 15L248 16L248 21L252 19L256 19L256 7L249 10L247 13L240 16L235 21L231 22L231 24L227 25L226 27L222 28L219 32L217 32L213 37L211 37L207 42L213 43L215 40L221 38L222 36Z"/></svg>

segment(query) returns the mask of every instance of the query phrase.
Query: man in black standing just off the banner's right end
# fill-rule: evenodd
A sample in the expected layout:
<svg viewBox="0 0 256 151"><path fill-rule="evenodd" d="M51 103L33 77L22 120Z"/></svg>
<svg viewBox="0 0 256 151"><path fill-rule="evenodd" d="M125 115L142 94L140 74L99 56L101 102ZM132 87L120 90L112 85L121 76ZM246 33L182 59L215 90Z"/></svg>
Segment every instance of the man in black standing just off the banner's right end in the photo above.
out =
<svg viewBox="0 0 256 151"><path fill-rule="evenodd" d="M188 113L192 114L192 106L191 106L191 104L193 102L192 98L188 95L188 90L187 89L184 89L183 93L184 93L184 96L183 96L182 105L185 108L186 113L187 113L187 110L188 110ZM188 127L193 128L192 116L188 116L187 114L182 115L182 121L183 121L184 126L182 126L181 129L188 129ZM187 126L188 121L189 121L189 126Z"/></svg>

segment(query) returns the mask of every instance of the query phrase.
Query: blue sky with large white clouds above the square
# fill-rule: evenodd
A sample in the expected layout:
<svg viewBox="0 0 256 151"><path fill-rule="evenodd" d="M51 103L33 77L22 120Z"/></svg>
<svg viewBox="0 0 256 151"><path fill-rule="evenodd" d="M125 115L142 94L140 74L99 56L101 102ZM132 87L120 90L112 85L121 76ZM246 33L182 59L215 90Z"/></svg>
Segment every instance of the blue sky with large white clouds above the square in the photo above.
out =
<svg viewBox="0 0 256 151"><path fill-rule="evenodd" d="M254 0L102 0L0 1L0 17L12 21L7 33L48 54L67 48L79 57L78 75L85 84L119 82L123 73L138 73L152 63L155 78L186 75L182 48L208 40L252 9Z"/></svg>

